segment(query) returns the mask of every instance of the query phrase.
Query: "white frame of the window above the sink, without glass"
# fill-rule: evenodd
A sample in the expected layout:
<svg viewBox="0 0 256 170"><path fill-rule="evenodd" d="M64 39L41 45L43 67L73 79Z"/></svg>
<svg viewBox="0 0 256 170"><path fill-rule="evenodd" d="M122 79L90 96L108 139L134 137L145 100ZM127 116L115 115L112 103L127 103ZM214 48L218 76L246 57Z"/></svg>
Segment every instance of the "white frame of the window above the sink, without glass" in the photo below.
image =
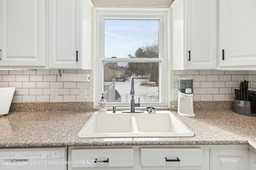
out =
<svg viewBox="0 0 256 170"><path fill-rule="evenodd" d="M144 106L168 106L168 9L99 8L95 9L95 78L94 107L104 91L104 62L159 62L159 102L140 102ZM104 19L157 19L159 20L158 58L104 58ZM97 75L97 76L96 76ZM136 94L136 89L134 89ZM130 89L127 93L130 92ZM135 101L138 103L138 101ZM108 102L107 106L130 107L130 102Z"/></svg>

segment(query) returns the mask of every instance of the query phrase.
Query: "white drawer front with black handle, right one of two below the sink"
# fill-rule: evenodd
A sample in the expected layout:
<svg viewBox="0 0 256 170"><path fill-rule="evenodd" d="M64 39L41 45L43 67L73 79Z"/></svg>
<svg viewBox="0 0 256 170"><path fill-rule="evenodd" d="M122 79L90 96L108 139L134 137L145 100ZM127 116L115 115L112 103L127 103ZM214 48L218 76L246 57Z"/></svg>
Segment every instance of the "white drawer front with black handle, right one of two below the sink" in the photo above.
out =
<svg viewBox="0 0 256 170"><path fill-rule="evenodd" d="M166 160L167 159L167 160ZM141 166L201 166L201 148L141 148Z"/></svg>

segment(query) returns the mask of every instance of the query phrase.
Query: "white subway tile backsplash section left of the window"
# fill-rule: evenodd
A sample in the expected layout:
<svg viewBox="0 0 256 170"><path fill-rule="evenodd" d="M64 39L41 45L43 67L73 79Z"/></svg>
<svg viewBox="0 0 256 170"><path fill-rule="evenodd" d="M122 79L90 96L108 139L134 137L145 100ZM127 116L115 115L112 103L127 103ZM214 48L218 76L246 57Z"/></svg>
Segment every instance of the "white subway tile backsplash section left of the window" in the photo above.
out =
<svg viewBox="0 0 256 170"><path fill-rule="evenodd" d="M90 74L90 70L70 70L67 72ZM90 82L63 82L58 70L0 70L0 87L16 87L13 102L90 100ZM58 89L57 99L50 99L52 88ZM85 88L88 91L86 98L80 98L80 88Z"/></svg>

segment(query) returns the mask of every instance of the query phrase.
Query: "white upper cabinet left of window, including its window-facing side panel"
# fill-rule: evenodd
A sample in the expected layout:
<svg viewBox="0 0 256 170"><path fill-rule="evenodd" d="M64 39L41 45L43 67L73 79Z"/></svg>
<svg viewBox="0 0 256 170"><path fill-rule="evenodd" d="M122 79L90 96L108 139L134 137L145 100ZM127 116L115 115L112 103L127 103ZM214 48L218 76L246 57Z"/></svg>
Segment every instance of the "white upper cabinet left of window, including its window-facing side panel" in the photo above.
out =
<svg viewBox="0 0 256 170"><path fill-rule="evenodd" d="M90 0L49 0L49 68L91 69L91 12Z"/></svg>

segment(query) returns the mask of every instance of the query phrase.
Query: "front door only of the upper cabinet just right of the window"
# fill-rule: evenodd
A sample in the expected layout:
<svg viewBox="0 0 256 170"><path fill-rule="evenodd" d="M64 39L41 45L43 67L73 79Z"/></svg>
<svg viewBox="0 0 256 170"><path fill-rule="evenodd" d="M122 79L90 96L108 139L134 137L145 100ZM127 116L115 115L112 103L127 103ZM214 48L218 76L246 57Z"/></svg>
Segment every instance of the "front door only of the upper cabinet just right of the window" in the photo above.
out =
<svg viewBox="0 0 256 170"><path fill-rule="evenodd" d="M217 2L185 1L185 68L217 67Z"/></svg>

